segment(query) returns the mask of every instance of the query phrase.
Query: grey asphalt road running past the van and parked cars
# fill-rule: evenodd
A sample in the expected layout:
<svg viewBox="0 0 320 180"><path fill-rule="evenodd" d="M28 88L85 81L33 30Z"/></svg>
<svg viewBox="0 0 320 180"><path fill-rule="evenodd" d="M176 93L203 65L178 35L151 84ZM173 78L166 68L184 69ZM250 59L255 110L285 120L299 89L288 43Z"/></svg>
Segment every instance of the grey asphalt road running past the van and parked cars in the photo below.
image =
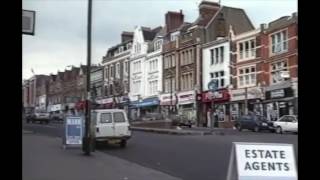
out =
<svg viewBox="0 0 320 180"><path fill-rule="evenodd" d="M24 124L23 127L49 136L63 134L62 124ZM224 180L232 142L289 143L294 144L296 158L298 155L297 135L250 131L206 136L133 132L126 149L109 145L99 150L184 180Z"/></svg>

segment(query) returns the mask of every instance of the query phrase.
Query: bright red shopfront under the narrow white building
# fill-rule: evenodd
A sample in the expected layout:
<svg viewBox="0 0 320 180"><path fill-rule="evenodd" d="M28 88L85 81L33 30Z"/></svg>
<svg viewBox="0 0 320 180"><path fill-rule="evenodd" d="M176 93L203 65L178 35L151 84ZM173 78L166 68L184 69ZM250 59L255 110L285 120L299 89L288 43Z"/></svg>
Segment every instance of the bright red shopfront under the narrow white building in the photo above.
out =
<svg viewBox="0 0 320 180"><path fill-rule="evenodd" d="M208 126L208 112L213 119L210 127L231 128L233 124L229 120L230 93L228 89L220 89L215 92L205 91L202 93L202 115Z"/></svg>

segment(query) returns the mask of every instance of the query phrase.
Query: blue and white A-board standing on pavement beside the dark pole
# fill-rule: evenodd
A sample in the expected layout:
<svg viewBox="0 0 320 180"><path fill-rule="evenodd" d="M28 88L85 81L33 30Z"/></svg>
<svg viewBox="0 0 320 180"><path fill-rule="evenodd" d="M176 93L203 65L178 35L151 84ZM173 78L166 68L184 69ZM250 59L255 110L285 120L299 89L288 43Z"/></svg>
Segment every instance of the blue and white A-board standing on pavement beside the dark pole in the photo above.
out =
<svg viewBox="0 0 320 180"><path fill-rule="evenodd" d="M83 122L79 116L68 116L65 122L65 144L81 145L83 136Z"/></svg>

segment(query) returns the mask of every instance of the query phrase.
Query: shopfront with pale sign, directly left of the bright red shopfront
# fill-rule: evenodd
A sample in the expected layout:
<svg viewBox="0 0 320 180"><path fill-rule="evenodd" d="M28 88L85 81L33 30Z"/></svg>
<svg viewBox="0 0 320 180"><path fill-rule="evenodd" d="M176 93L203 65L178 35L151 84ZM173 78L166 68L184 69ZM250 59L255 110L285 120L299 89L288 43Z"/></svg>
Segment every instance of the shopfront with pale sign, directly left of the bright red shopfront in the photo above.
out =
<svg viewBox="0 0 320 180"><path fill-rule="evenodd" d="M184 115L188 120L196 122L197 106L195 91L180 92L178 96L178 114Z"/></svg>

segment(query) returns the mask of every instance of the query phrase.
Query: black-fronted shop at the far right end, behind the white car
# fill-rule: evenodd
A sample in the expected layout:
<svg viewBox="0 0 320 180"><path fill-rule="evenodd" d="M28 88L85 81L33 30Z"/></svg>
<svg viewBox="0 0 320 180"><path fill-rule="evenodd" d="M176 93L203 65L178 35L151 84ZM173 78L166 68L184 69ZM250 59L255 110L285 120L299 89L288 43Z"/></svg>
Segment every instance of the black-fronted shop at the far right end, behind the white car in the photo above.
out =
<svg viewBox="0 0 320 180"><path fill-rule="evenodd" d="M264 106L267 118L275 121L281 116L296 114L296 101L291 87L266 91Z"/></svg>

